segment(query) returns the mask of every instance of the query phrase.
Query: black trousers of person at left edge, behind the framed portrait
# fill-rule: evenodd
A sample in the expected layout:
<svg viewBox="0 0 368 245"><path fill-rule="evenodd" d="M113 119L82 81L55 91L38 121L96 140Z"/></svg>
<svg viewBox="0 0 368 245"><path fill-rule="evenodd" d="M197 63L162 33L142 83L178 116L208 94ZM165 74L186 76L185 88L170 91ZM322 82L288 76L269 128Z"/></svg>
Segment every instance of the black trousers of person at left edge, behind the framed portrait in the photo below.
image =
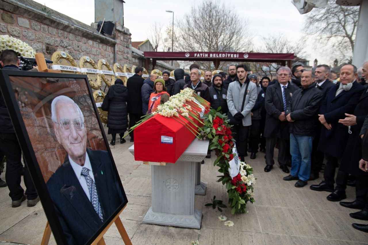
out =
<svg viewBox="0 0 368 245"><path fill-rule="evenodd" d="M22 198L24 190L21 187L21 171L22 171L22 150L19 146L17 136L13 134L0 134L0 148L6 156L6 172L5 180L9 188L9 196L11 200L19 200ZM33 185L31 174L29 174L27 164L24 163L24 184L26 187L25 194L28 200L37 198L37 192Z"/></svg>

